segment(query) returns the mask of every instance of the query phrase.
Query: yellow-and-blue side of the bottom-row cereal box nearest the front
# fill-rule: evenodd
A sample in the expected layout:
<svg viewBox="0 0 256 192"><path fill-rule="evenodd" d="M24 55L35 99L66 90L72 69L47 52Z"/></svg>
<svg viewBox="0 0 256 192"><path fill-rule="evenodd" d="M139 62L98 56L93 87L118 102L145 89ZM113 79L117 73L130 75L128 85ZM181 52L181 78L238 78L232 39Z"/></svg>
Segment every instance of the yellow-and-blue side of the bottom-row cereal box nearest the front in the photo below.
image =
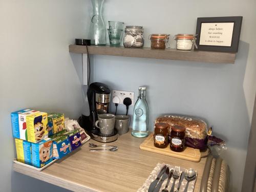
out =
<svg viewBox="0 0 256 192"><path fill-rule="evenodd" d="M31 143L21 139L15 139L17 160L31 165Z"/></svg>

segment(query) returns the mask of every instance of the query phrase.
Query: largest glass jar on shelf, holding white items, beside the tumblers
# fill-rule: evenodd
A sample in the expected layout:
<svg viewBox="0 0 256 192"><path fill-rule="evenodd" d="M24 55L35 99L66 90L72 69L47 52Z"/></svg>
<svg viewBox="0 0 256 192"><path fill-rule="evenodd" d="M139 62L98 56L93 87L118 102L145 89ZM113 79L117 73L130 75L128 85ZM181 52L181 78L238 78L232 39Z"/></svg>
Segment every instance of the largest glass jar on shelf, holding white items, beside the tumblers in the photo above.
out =
<svg viewBox="0 0 256 192"><path fill-rule="evenodd" d="M144 45L142 26L125 26L123 46L127 48L142 48Z"/></svg>

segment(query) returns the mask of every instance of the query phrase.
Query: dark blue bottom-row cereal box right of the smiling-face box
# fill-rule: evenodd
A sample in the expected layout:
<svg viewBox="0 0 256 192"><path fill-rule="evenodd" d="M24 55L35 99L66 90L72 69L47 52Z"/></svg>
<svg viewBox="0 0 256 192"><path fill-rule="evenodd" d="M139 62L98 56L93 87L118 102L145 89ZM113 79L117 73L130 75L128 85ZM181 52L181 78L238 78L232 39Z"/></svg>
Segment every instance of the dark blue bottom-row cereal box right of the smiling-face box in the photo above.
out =
<svg viewBox="0 0 256 192"><path fill-rule="evenodd" d="M68 135L55 137L52 141L53 159L61 159L71 152L71 145Z"/></svg>

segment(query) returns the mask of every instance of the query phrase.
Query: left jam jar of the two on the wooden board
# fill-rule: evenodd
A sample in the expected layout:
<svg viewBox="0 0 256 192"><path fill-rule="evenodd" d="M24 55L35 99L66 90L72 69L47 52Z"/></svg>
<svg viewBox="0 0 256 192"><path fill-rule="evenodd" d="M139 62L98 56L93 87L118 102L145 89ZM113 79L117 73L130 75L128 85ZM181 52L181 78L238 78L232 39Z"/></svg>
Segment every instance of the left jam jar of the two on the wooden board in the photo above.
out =
<svg viewBox="0 0 256 192"><path fill-rule="evenodd" d="M167 123L156 123L154 134L154 145L158 148L168 146L168 127Z"/></svg>

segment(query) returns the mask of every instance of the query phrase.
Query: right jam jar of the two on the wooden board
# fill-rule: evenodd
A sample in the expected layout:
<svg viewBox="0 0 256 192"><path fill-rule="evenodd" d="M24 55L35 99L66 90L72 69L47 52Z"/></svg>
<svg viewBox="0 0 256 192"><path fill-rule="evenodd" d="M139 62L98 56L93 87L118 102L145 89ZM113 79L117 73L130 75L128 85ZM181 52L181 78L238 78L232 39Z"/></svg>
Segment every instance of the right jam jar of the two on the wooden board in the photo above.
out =
<svg viewBox="0 0 256 192"><path fill-rule="evenodd" d="M170 149L174 152L183 152L185 144L185 127L174 125L170 132Z"/></svg>

